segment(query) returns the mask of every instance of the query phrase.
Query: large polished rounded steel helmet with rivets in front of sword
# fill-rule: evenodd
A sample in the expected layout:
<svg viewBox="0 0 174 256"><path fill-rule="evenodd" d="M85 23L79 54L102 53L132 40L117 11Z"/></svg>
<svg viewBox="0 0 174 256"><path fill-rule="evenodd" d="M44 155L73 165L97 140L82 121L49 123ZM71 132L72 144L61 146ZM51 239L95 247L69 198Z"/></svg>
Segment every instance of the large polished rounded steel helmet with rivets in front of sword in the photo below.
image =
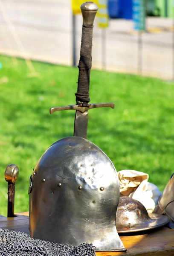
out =
<svg viewBox="0 0 174 256"><path fill-rule="evenodd" d="M125 250L116 231L119 179L100 148L81 137L61 139L45 151L33 174L31 237L75 246L92 243L96 251Z"/></svg>

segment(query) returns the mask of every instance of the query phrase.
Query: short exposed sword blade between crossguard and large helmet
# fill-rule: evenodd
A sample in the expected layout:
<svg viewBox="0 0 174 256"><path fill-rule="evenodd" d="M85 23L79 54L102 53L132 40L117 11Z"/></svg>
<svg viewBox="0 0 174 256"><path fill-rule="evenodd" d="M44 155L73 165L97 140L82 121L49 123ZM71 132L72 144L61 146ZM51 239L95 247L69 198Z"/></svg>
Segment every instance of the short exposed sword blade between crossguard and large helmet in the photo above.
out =
<svg viewBox="0 0 174 256"><path fill-rule="evenodd" d="M74 136L87 138L88 111L76 111L74 121Z"/></svg>

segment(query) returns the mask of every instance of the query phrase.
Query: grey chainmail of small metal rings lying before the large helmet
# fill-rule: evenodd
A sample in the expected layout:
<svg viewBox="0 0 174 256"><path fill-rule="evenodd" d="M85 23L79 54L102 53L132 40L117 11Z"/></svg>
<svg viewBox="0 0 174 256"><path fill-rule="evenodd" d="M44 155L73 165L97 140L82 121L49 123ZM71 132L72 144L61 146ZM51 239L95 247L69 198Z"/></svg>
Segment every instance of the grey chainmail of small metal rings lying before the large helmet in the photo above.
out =
<svg viewBox="0 0 174 256"><path fill-rule="evenodd" d="M0 256L95 256L92 244L56 244L0 228Z"/></svg>

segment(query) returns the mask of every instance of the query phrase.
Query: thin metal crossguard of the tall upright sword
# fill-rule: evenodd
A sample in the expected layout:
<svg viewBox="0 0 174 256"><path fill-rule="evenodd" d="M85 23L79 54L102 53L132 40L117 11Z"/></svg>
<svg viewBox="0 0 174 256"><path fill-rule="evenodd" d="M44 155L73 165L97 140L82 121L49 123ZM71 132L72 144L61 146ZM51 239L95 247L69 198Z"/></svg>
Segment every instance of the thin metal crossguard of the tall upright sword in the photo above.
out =
<svg viewBox="0 0 174 256"><path fill-rule="evenodd" d="M62 111L62 110L76 110L80 111L81 113L84 113L92 108L114 108L114 103L96 103L96 104L89 104L87 107L81 107L78 105L69 105L69 106L62 106L62 107L54 107L50 108L49 113L53 114L56 111Z"/></svg>

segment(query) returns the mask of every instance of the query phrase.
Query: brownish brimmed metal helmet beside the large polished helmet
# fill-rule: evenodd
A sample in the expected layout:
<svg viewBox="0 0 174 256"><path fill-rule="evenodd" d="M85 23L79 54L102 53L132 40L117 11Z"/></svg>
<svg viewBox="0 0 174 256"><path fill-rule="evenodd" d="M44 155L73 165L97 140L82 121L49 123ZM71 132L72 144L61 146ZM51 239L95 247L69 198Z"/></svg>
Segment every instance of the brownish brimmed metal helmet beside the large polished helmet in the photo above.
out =
<svg viewBox="0 0 174 256"><path fill-rule="evenodd" d="M129 233L149 230L164 226L168 218L161 214L148 213L145 207L137 200L122 196L116 215L118 233Z"/></svg>

